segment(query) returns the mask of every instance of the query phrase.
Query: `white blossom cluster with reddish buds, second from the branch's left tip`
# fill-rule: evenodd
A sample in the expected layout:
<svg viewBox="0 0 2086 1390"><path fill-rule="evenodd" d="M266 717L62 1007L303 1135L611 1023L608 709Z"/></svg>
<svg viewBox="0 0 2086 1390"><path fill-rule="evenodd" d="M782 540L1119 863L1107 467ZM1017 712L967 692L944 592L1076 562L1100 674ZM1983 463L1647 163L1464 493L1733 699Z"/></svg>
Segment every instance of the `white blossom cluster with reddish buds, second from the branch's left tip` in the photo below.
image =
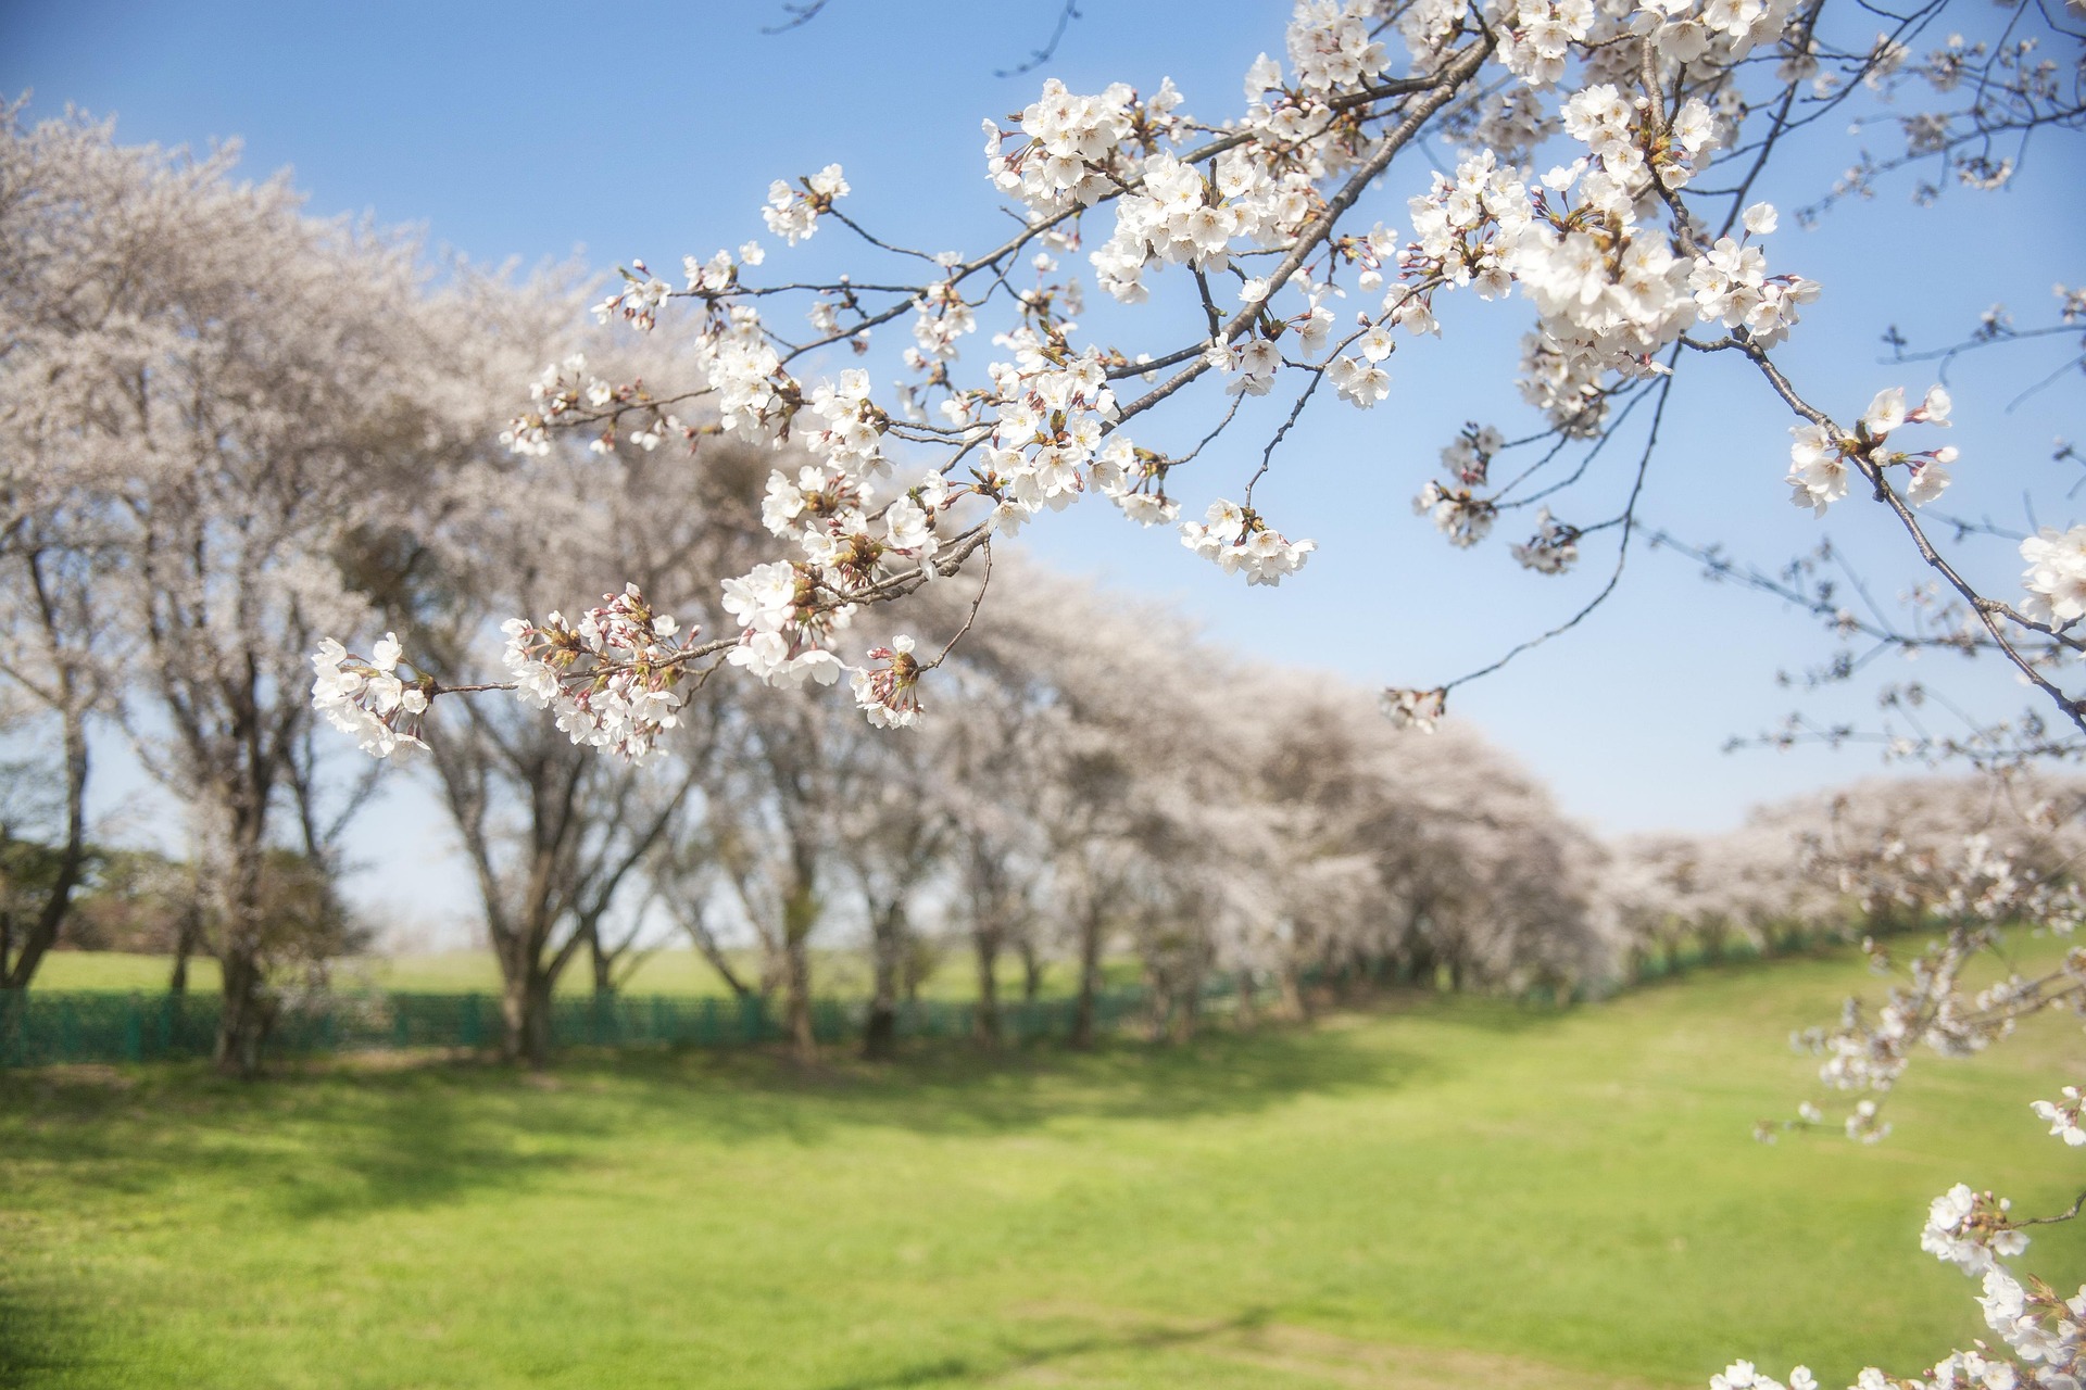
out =
<svg viewBox="0 0 2086 1390"><path fill-rule="evenodd" d="M695 634L680 636L672 615L653 613L638 586L607 594L576 623L553 613L542 623L507 619L501 631L515 696L551 711L572 742L636 763L680 723L682 663Z"/></svg>

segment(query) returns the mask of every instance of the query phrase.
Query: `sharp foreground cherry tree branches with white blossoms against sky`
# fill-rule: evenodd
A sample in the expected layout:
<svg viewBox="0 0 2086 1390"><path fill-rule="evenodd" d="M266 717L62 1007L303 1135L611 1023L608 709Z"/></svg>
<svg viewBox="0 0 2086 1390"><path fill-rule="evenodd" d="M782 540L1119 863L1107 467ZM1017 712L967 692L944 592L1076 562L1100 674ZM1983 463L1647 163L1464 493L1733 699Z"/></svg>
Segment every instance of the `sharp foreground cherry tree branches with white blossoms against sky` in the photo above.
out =
<svg viewBox="0 0 2086 1390"><path fill-rule="evenodd" d="M1955 402L1917 354L1867 402L1827 400L1786 369L1781 348L1821 286L1777 240L1784 215L1763 192L1825 123L1892 129L1902 146L1863 152L1802 217L1892 181L1936 198L2026 177L2030 150L2040 160L2086 125L2082 23L2076 2L2051 0L1994 13L1944 0L1905 10L1300 0L1283 56L1250 67L1229 117L1191 117L1170 81L1147 94L1045 81L1012 125L985 121L985 177L1020 223L997 246L953 252L876 235L847 213L853 190L839 165L778 179L761 208L770 238L853 235L859 273L766 275L786 252L757 242L688 256L674 283L632 263L597 313L640 331L684 313L695 373L663 386L553 365L507 433L524 452L572 429L605 442L672 438L695 446L695 467L715 433L809 450L816 463L770 479L772 556L724 581L730 623L713 634L672 644L630 634L565 665L524 652L513 679L607 744L651 738L680 706L678 673L720 656L770 684L845 673L870 721L912 725L932 709L932 671L947 654L922 659L884 631L862 640L868 615L966 571L983 579L995 538L1091 494L1133 523L1172 527L1243 584L1281 584L1316 546L1285 533L1256 488L1300 467L1285 452L1295 421L1385 402L1393 352L1425 350L1446 304L1477 298L1531 323L1510 386L1535 419L1527 429L1475 421L1446 440L1441 475L1412 506L1452 546L1483 544L1519 511L1517 563L1556 575L1602 554L1608 577L1579 613L1479 671L1387 690L1393 723L1433 729L1460 684L1571 629L1615 592L1644 479L1665 463L1677 383L1725 369L1756 383L1763 408L1786 413L1792 500L1817 515L1865 508L1927 571L1911 623L1832 621L1900 650L1990 656L2040 702L1975 719L1948 748L1984 761L2073 756L2086 750L2076 663L2086 525L1990 533L1998 563L1936 544L1950 525L1936 502L1961 463L1942 433ZM1427 167L1429 150L1450 156ZM1373 217L1383 202L1373 194L1404 198L1404 217ZM1106 315L1108 340L1078 325L1089 283L1126 306ZM2076 340L2082 317L2086 294L2059 286L2028 333ZM901 323L912 344L893 388L826 369L832 350L874 352ZM1994 319L1982 338L2028 333ZM962 356L974 336L993 348L983 369ZM1237 448L1245 431L1258 448ZM1610 492L1619 506L1602 500ZM1377 488L1358 504L1389 519L1406 500ZM2000 573L2009 554L2026 565L2017 581ZM382 700L348 700L336 715L378 742L375 727L390 727ZM1998 863L1961 869L1982 884L1965 894L1975 911L2057 911ZM1946 950L1988 940L1952 936ZM1466 954L1462 942L1454 950ZM1894 1017L1948 1050L1959 1032L1934 1019L1963 1017L1959 973L1944 959L1923 977L1911 1011L1894 1004ZM1980 1017L2073 996L2069 973L2048 988L2009 986ZM2032 1363L2023 1375L2061 1384L2076 1327L2034 1340L2023 1327L2046 1330L2036 1319L2059 1317L2059 1305L2028 1307L2042 1294L2023 1288L1988 1292L1990 1317L2019 1332L2007 1338ZM1996 1371L1978 1375L2000 1384ZM1733 1367L1725 1384L1756 1384L1752 1367Z"/></svg>

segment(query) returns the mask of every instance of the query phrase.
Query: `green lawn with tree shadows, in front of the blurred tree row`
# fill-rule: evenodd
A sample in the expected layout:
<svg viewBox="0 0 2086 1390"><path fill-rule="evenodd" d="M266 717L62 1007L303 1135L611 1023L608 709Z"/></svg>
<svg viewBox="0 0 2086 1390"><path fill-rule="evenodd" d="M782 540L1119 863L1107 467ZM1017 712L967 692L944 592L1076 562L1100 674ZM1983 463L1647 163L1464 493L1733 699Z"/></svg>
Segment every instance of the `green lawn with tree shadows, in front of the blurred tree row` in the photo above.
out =
<svg viewBox="0 0 2086 1390"><path fill-rule="evenodd" d="M2078 1190L2078 1032L1750 1142L1846 961L1573 1013L918 1052L0 1075L0 1386L1827 1386L1982 1327L1950 1182ZM2030 1267L2078 1284L2086 1240Z"/></svg>

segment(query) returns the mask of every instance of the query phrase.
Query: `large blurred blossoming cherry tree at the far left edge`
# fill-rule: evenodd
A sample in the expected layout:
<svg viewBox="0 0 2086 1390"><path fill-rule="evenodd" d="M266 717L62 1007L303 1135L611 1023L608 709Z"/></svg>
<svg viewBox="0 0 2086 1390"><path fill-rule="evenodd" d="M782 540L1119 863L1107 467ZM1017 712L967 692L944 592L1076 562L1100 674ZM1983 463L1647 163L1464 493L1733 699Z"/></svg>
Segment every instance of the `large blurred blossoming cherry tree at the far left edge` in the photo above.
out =
<svg viewBox="0 0 2086 1390"><path fill-rule="evenodd" d="M321 800L309 738L311 650L369 613L342 559L484 431L451 429L444 392L423 390L453 361L453 321L417 244L307 219L282 179L232 183L234 158L6 113L0 469L25 602L6 665L60 723L67 838L83 721L115 715L196 817L219 898L219 1065L250 1073L269 971L307 954L298 915L269 911L269 857L294 846L330 871L367 781Z"/></svg>

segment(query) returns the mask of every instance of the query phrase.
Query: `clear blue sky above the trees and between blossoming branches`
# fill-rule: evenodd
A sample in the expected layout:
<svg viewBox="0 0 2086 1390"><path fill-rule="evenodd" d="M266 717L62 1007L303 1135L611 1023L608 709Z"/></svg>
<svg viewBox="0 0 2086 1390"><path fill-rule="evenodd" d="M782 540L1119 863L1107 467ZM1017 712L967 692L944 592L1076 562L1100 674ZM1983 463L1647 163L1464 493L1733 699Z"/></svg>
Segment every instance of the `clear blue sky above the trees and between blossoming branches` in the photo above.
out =
<svg viewBox="0 0 2086 1390"><path fill-rule="evenodd" d="M1087 0L1058 56L999 77L1041 44L1058 0L830 0L814 23L761 33L772 0L741 4L0 4L0 92L33 90L31 117L67 102L115 115L125 142L207 146L244 140L244 169L294 169L317 215L417 223L432 246L482 263L580 256L609 269L763 235L768 181L828 160L847 167L849 208L895 240L978 248L1005 225L983 177L978 121L1035 98L1045 75L1074 90L1172 77L1189 110L1235 113L1239 75L1281 52L1287 4ZM1859 142L1819 131L1763 196L1786 208L1815 198ZM2086 158L2046 142L2015 188L1915 208L1909 183L1848 204L1819 231L1769 240L1775 269L1823 281L1823 298L1781 352L1792 377L1842 417L1894 383L1913 392L1932 367L1886 367L1877 338L1896 323L1913 342L1950 342L1994 300L2023 325L2048 317L2053 281L2086 279ZM1425 183L1393 175L1381 215ZM839 267L851 254L824 231L797 252ZM776 269L770 260L768 269ZM791 267L795 269L795 267ZM1477 311L1477 313L1466 313ZM1431 686L1483 665L1583 600L1608 552L1583 573L1519 571L1506 542L1452 552L1414 517L1389 523L1354 506L1362 490L1410 496L1464 419L1525 425L1510 369L1523 306L1458 306L1441 342L1404 346L1391 398L1371 413L1316 411L1262 488L1277 525L1312 536L1318 554L1279 590L1245 590L1164 531L1137 531L1112 508L1072 508L1026 531L1051 563L1179 602L1212 640L1254 656L1368 684ZM1118 319L1095 315L1089 327ZM1126 323L1126 321L1124 321ZM1135 344L1131 344L1135 346ZM2078 375L2013 404L2061 358L2007 348L1961 361L1952 442L1963 450L1952 511L2021 523L2021 494L2063 498L2046 463L2053 436L2086 436ZM519 396L517 383L517 396ZM1700 542L1779 565L1821 531L1892 602L1915 575L1882 515L1842 504L1819 523L1792 508L1788 417L1740 363L1694 363L1677 392L1644 517ZM1235 496L1258 458L1247 436L1210 458L1191 504ZM2076 467L2076 465L2073 465ZM2055 479L2055 486L2053 486ZM2067 504L2067 502L2059 502ZM1873 508L1871 508L1873 511ZM2078 515L2040 515L2067 525ZM1504 531L1504 527L1502 527ZM2019 561L1988 546L1967 561L2007 579ZM1458 692L1477 721L1550 779L1598 829L1721 827L1748 802L1877 771L1873 754L1719 748L1804 704L1863 715L1865 690L1800 700L1777 669L1815 663L1829 644L1777 602L1704 584L1671 554L1640 554L1617 600L1581 631ZM2019 692L1996 671L1930 663L1917 671L1984 709ZM434 823L401 788L365 857L440 913L467 900L426 848ZM436 911L436 909L428 909Z"/></svg>

